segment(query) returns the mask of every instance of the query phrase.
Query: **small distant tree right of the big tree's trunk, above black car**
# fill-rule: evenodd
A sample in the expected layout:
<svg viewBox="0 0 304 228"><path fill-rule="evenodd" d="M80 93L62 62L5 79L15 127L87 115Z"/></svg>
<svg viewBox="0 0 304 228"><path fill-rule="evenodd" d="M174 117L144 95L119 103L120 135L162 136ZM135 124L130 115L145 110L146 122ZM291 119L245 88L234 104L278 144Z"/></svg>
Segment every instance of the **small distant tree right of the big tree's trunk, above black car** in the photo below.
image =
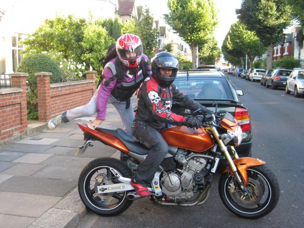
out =
<svg viewBox="0 0 304 228"><path fill-rule="evenodd" d="M202 65L213 65L216 58L220 57L220 49L214 36L211 36L208 42L199 46L199 60Z"/></svg>

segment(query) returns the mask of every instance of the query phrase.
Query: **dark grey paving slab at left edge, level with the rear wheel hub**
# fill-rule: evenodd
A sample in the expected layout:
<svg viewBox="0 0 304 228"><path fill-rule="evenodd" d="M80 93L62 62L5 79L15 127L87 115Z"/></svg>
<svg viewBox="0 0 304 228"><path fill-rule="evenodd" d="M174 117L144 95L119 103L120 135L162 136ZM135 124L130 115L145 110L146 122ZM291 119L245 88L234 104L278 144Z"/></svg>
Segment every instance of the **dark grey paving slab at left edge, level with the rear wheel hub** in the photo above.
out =
<svg viewBox="0 0 304 228"><path fill-rule="evenodd" d="M40 177L14 176L1 183L0 191L11 192L11 194L12 192L19 192L34 195L62 197L77 186L77 182L77 180L69 181Z"/></svg>

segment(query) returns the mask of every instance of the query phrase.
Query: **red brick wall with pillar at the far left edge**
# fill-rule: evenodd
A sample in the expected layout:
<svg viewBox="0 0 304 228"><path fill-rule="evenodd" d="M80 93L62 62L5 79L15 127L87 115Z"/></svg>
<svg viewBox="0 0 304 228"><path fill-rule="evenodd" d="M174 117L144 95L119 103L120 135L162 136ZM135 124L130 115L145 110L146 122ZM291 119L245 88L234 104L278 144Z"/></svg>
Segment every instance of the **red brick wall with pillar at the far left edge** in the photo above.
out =
<svg viewBox="0 0 304 228"><path fill-rule="evenodd" d="M0 145L25 135L27 122L26 76L12 73L12 88L0 90Z"/></svg>

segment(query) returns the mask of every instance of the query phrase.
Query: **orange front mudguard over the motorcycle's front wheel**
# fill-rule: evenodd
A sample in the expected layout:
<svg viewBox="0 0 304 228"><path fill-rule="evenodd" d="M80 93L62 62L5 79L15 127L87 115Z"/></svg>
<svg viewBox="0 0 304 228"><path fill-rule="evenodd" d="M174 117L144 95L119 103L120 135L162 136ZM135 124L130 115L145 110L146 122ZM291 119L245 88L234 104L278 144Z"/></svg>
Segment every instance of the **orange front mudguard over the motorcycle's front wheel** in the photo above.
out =
<svg viewBox="0 0 304 228"><path fill-rule="evenodd" d="M248 183L247 168L253 166L260 166L265 164L265 162L260 159L244 157L244 158L235 159L234 164L238 167L238 170L243 178L243 181L245 181L244 184L247 185ZM227 169L223 173L226 172L228 172Z"/></svg>

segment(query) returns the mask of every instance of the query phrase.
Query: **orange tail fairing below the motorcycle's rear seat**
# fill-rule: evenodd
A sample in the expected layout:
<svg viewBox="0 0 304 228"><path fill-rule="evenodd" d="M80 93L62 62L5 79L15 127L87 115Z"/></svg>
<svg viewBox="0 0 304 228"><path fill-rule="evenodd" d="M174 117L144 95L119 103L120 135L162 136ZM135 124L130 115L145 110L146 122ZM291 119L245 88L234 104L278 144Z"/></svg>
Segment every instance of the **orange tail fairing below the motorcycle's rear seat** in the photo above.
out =
<svg viewBox="0 0 304 228"><path fill-rule="evenodd" d="M118 138L114 137L113 135L108 134L103 131L93 130L93 129L89 128L87 126L87 124L84 124L84 123L77 123L77 124L82 131L90 133L90 135L93 135L93 136L99 138L100 141L105 142L105 143L111 145L112 147L114 147L120 151L123 151L124 153L129 153L129 150L127 149L127 147Z"/></svg>

